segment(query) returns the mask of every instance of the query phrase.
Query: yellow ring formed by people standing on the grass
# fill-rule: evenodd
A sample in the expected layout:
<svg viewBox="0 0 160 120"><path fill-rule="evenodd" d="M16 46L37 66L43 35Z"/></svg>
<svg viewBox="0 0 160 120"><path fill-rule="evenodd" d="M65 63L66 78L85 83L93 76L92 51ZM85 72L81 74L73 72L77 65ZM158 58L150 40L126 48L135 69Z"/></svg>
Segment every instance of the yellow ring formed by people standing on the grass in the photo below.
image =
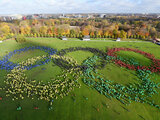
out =
<svg viewBox="0 0 160 120"><path fill-rule="evenodd" d="M57 55L51 55L53 61L57 59L66 60L72 65L72 69L64 69L62 75L51 79L48 84L42 81L36 82L35 80L28 80L25 75L27 70L25 66L36 63L37 60L43 60L46 56L39 56L36 58L28 59L25 62L19 63L19 66L11 70L11 73L7 75L6 93L7 96L12 96L15 99L24 99L24 97L38 97L38 99L44 99L51 101L53 98L57 99L59 96L64 97L74 89L74 87L80 87L78 79L80 76L79 68L74 68L77 65L76 61L68 57L62 57ZM67 77L69 76L69 77Z"/></svg>

